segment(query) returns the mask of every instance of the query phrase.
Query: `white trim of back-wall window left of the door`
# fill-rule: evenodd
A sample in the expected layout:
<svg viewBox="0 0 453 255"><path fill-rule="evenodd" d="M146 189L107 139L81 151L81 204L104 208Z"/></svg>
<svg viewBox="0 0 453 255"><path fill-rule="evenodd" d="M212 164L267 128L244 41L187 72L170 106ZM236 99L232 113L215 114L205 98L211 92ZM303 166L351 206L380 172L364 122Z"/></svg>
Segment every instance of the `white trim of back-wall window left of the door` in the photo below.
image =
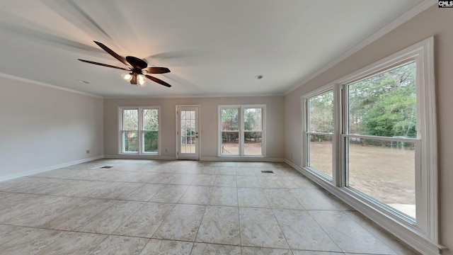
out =
<svg viewBox="0 0 453 255"><path fill-rule="evenodd" d="M142 120L142 111L144 109L156 109L158 111L158 125L159 129L157 130L157 152L142 152L143 140L142 132L147 131L143 130L143 120ZM138 130L138 143L139 149L138 152L123 152L122 151L122 111L123 110L138 110L139 116L139 130ZM121 155L146 155L146 156L159 156L161 154L161 106L118 106L118 154Z"/></svg>

